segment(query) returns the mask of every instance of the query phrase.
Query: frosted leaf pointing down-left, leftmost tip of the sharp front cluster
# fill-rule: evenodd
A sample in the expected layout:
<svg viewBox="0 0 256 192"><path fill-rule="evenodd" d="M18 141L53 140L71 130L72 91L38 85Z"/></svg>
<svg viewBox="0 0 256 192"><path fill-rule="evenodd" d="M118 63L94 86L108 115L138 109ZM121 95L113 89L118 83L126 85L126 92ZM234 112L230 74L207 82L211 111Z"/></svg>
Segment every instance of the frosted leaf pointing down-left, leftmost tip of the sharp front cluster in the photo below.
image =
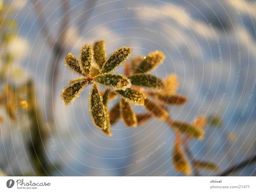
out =
<svg viewBox="0 0 256 192"><path fill-rule="evenodd" d="M79 97L81 91L86 85L90 83L88 78L73 79L72 82L61 91L61 99L64 100L65 105L68 106L71 102Z"/></svg>

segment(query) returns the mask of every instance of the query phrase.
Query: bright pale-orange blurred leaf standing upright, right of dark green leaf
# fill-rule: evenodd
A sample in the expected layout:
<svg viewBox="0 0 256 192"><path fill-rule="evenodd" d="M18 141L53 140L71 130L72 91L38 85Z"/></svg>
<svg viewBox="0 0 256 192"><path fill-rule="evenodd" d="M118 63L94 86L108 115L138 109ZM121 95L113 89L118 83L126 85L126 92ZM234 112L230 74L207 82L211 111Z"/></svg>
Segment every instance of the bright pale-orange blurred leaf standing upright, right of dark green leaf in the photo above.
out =
<svg viewBox="0 0 256 192"><path fill-rule="evenodd" d="M166 79L164 79L164 93L163 95L174 95L176 90L179 88L179 82L176 77L176 74L168 75Z"/></svg>

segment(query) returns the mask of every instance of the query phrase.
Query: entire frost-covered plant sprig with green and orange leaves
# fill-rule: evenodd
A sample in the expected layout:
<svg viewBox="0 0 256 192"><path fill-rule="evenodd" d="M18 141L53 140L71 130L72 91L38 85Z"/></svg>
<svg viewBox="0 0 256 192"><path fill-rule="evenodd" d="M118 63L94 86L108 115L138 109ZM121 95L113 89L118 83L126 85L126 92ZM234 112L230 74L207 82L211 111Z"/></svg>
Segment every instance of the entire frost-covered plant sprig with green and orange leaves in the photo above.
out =
<svg viewBox="0 0 256 192"><path fill-rule="evenodd" d="M151 117L165 121L176 131L173 164L179 161L175 168L185 174L190 174L191 167L182 145L186 145L190 138L203 139L203 127L206 121L200 117L191 124L171 119L168 106L184 104L187 97L176 94L179 83L175 74L168 75L163 81L149 74L163 62L165 56L162 52L155 51L145 57L134 57L126 62L124 64L125 76L112 73L128 59L131 53L132 49L124 46L116 49L107 59L104 40L96 41L93 46L90 44L82 46L78 59L68 53L64 59L65 65L81 78L70 81L68 86L62 90L61 98L66 105L69 105L80 95L85 86L93 83L89 94L92 122L109 136L112 136L110 126L120 119L128 127L143 124ZM105 88L106 91L99 91L98 86ZM108 110L108 101L116 99L117 96L121 99ZM135 114L132 104L141 105L148 112ZM212 164L201 161L194 160L192 164L197 168L216 168Z"/></svg>

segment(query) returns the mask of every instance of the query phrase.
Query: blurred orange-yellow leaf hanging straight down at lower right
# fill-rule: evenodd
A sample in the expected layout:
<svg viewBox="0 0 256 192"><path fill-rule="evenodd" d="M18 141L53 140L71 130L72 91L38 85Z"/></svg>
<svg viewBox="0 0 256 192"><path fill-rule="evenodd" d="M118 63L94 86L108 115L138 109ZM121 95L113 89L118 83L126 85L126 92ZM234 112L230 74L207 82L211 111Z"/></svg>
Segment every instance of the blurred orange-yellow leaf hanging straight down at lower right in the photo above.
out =
<svg viewBox="0 0 256 192"><path fill-rule="evenodd" d="M181 139L175 140L174 150L173 150L173 158L172 158L173 167L178 172L182 172L186 175L191 173L191 166L188 163L188 159L185 156L184 151L181 148Z"/></svg>

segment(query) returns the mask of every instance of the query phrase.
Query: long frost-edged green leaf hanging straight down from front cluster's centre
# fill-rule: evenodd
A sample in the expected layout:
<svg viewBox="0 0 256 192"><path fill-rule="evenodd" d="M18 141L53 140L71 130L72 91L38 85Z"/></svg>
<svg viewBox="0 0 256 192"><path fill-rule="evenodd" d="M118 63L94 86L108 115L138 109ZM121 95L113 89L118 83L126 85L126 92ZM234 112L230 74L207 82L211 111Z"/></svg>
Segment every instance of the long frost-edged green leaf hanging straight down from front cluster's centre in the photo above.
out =
<svg viewBox="0 0 256 192"><path fill-rule="evenodd" d="M89 108L92 116L92 123L100 128L107 128L106 111L103 105L102 96L100 96L97 85L93 85L89 96Z"/></svg>

